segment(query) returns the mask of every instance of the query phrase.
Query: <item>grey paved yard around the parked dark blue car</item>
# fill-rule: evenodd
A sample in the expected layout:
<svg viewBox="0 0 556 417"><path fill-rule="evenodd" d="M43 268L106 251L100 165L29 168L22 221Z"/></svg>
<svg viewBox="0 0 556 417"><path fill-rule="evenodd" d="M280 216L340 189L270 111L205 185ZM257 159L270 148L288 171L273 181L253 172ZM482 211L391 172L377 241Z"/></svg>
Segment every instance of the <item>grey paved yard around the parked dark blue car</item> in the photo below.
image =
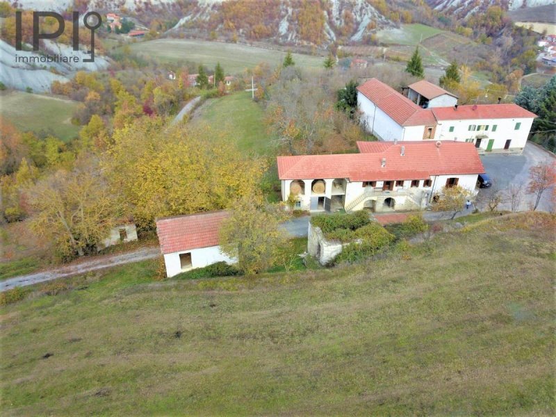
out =
<svg viewBox="0 0 556 417"><path fill-rule="evenodd" d="M492 188L483 188L477 196L477 207L480 210L486 208L487 199L492 193L498 190L507 190L509 184L518 184L523 187L523 201L519 207L520 211L530 209L530 204L534 202L533 195L525 195L525 189L529 183L529 168L544 161L556 159L550 152L528 142L521 155L488 154L481 156L486 174L492 178L494 185ZM538 211L553 211L553 203L550 202L552 190L546 190L539 202ZM500 210L509 210L509 202L502 202L498 206Z"/></svg>

